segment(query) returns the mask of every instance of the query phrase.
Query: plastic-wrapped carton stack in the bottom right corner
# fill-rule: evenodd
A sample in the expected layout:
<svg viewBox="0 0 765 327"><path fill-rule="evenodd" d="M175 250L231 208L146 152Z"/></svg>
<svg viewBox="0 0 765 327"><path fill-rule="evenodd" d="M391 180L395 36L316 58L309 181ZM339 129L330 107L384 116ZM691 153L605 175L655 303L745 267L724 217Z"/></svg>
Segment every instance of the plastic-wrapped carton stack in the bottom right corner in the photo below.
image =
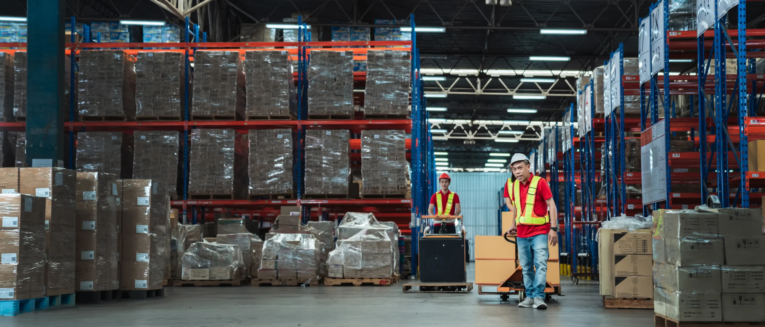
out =
<svg viewBox="0 0 765 327"><path fill-rule="evenodd" d="M654 210L654 311L678 320L765 321L760 210Z"/></svg>

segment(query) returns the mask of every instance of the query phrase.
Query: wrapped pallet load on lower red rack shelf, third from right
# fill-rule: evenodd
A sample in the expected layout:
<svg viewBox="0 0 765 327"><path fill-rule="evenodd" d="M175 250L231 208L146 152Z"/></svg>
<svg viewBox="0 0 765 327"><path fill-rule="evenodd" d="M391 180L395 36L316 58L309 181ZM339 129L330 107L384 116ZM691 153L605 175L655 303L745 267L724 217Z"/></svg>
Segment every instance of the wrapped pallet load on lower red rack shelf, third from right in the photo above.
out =
<svg viewBox="0 0 765 327"><path fill-rule="evenodd" d="M293 192L292 131L250 130L249 194Z"/></svg>

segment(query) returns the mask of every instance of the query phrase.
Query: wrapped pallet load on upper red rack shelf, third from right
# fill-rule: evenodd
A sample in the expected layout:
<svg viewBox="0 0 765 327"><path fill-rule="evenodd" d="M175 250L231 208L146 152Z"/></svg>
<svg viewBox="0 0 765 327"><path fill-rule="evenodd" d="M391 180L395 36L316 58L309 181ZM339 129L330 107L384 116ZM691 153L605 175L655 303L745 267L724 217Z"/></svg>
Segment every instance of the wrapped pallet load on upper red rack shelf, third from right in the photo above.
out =
<svg viewBox="0 0 765 327"><path fill-rule="evenodd" d="M288 51L246 51L247 119L295 115L295 82Z"/></svg>

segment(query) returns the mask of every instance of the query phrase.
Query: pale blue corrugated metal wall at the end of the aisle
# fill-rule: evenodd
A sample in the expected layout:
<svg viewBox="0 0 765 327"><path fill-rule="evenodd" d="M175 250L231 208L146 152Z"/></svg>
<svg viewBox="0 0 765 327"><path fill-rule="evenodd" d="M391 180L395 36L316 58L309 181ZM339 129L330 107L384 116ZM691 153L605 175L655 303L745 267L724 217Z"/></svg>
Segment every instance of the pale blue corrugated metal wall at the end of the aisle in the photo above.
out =
<svg viewBox="0 0 765 327"><path fill-rule="evenodd" d="M497 235L499 191L510 178L509 172L454 172L449 189L460 196L466 237L470 244L470 261L475 256L477 235Z"/></svg>

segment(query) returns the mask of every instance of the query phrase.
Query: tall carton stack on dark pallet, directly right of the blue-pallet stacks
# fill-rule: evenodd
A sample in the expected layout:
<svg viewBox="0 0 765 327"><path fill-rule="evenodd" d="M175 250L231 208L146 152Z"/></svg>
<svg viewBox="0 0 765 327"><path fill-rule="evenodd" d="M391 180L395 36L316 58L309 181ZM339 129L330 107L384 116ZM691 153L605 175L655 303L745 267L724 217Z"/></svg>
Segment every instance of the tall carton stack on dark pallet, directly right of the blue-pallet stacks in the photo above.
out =
<svg viewBox="0 0 765 327"><path fill-rule="evenodd" d="M117 176L77 172L75 289L119 290Z"/></svg>

